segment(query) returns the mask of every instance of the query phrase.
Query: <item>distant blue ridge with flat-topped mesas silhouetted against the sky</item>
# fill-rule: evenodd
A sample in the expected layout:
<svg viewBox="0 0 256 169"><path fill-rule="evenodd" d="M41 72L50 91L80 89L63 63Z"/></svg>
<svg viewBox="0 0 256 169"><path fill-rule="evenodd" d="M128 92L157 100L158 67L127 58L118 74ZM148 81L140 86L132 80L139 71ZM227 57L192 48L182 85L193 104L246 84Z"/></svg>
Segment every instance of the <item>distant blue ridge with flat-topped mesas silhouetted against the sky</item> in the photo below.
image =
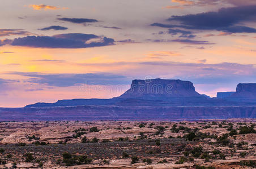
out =
<svg viewBox="0 0 256 169"><path fill-rule="evenodd" d="M117 105L117 106L235 106L256 105L256 83L240 83L236 92L219 92L219 97L200 95L190 81L180 79L135 79L124 94L112 99L72 99L36 103L25 108ZM220 96L222 95L222 96Z"/></svg>

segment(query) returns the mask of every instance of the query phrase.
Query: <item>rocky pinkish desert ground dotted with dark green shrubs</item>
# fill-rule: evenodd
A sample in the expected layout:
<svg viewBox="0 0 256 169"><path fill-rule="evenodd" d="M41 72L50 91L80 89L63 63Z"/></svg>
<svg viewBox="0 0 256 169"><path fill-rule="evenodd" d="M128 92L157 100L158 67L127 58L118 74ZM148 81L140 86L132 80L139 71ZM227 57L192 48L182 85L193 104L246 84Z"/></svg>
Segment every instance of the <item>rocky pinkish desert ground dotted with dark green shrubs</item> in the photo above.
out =
<svg viewBox="0 0 256 169"><path fill-rule="evenodd" d="M255 168L255 124L1 122L0 168Z"/></svg>

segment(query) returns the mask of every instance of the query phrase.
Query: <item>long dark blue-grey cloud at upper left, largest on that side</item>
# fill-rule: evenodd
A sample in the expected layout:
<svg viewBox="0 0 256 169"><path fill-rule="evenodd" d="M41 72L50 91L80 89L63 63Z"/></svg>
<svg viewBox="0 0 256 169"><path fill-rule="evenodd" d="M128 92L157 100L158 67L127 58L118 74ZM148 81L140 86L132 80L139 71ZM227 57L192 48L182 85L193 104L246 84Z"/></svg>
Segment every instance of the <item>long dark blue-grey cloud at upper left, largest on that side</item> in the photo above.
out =
<svg viewBox="0 0 256 169"><path fill-rule="evenodd" d="M88 40L98 38L98 41L88 42ZM49 36L27 36L22 38L8 39L2 45L10 44L12 46L27 46L41 48L87 48L114 45L114 39L98 37L93 34L58 34ZM0 43L1 45L1 43Z"/></svg>

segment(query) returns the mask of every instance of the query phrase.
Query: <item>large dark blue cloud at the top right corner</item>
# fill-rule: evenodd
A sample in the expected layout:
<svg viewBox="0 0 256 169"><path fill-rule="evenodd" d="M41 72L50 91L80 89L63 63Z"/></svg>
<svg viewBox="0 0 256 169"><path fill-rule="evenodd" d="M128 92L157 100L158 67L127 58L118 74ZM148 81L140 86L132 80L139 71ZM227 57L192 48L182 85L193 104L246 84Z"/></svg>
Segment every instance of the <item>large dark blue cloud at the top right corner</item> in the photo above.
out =
<svg viewBox="0 0 256 169"><path fill-rule="evenodd" d="M219 30L230 33L256 33L255 28L237 24L256 21L256 5L221 8L217 12L204 12L182 16L172 16L168 21L180 22L180 25L155 23L152 26L165 28L180 27L198 30ZM172 26L172 27L171 27Z"/></svg>

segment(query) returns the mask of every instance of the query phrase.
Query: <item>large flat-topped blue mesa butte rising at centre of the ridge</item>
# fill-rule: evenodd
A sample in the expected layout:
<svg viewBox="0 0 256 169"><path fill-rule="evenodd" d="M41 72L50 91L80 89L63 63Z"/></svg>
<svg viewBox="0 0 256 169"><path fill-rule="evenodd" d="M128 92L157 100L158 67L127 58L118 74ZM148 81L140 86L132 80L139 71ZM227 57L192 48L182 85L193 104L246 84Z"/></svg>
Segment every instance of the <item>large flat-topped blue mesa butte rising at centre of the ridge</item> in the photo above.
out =
<svg viewBox="0 0 256 169"><path fill-rule="evenodd" d="M202 97L189 81L170 79L134 80L120 98Z"/></svg>

